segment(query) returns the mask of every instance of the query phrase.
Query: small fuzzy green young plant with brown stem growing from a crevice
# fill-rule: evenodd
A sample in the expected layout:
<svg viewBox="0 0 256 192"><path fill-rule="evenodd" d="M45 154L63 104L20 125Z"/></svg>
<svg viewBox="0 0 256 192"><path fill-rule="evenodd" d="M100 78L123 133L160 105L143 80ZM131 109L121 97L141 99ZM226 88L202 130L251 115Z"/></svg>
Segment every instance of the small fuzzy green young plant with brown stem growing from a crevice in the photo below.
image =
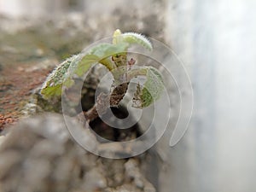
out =
<svg viewBox="0 0 256 192"><path fill-rule="evenodd" d="M154 67L133 67L134 59L128 59L128 49L132 44L138 44L145 49L152 50L152 44L143 35L135 32L121 33L120 30L113 32L112 44L98 44L87 53L73 55L62 62L59 67L49 74L40 93L44 99L55 101L61 98L62 86L70 88L74 84L73 77L82 77L95 64L107 67L113 75L113 91L110 96L100 94L96 104L88 112L84 112L86 119L92 120L97 117L96 105L102 108L102 113L110 105L116 107L125 96L131 79L144 76L145 83L137 84L134 93L132 107L145 108L159 99L164 89L163 79L160 72ZM109 103L109 105L108 105Z"/></svg>

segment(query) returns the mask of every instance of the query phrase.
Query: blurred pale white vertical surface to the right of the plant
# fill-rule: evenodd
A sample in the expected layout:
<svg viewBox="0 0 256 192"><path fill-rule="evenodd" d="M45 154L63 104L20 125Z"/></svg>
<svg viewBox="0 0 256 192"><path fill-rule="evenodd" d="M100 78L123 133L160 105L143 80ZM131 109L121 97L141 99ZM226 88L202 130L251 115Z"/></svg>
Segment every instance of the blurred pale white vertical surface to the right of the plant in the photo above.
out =
<svg viewBox="0 0 256 192"><path fill-rule="evenodd" d="M172 2L167 31L195 93L193 119L182 141L192 141L184 144L189 157L183 156L189 159L190 174L184 177L191 185L173 183L174 191L254 191L256 2ZM178 174L182 179L185 172Z"/></svg>

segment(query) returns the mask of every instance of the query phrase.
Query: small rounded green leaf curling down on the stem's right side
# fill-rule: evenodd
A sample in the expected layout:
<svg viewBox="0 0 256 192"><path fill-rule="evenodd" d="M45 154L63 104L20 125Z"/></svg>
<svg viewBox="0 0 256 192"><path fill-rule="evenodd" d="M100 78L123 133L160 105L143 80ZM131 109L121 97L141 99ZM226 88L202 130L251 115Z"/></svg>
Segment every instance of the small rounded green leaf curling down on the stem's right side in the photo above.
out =
<svg viewBox="0 0 256 192"><path fill-rule="evenodd" d="M164 90L162 76L154 67L140 67L137 69L136 73L130 73L131 77L133 75L134 77L137 77L137 75L145 76L146 82L143 84L143 89L140 84L137 85L137 91L133 97L132 107L146 108L160 98L160 95Z"/></svg>

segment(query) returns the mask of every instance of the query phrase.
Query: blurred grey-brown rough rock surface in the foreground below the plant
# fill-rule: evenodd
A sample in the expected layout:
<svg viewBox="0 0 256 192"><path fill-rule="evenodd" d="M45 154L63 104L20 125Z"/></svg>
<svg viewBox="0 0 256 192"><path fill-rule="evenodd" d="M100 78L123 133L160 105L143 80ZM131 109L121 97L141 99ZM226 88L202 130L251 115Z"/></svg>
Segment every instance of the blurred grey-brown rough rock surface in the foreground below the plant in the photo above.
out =
<svg viewBox="0 0 256 192"><path fill-rule="evenodd" d="M147 155L110 160L90 154L55 113L24 119L9 129L0 156L1 192L155 191L142 173Z"/></svg>

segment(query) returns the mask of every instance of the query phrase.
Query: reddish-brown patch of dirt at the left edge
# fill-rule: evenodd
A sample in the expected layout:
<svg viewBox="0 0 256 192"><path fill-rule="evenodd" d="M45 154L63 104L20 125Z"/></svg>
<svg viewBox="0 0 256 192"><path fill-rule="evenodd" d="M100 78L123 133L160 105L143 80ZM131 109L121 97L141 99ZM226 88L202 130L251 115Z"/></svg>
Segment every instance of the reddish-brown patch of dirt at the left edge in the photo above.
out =
<svg viewBox="0 0 256 192"><path fill-rule="evenodd" d="M32 90L44 82L51 70L50 67L26 70L32 67L31 64L20 63L17 66L3 67L0 71L0 130L24 115L22 109L29 101Z"/></svg>

